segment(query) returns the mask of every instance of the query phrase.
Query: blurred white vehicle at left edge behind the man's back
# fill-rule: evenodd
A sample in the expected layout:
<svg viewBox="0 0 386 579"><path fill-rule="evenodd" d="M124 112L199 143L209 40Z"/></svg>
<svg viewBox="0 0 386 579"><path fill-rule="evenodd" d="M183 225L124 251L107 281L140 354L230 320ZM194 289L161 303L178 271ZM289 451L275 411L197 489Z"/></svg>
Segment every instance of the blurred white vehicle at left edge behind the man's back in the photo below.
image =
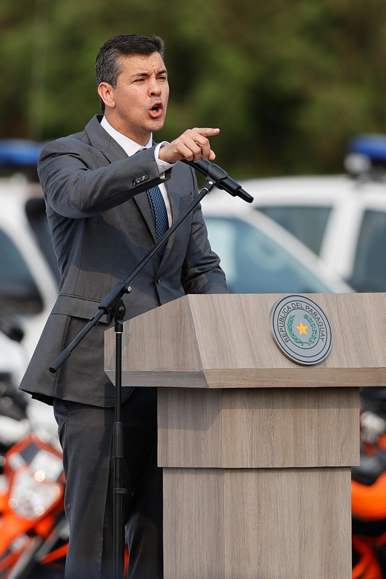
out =
<svg viewBox="0 0 386 579"><path fill-rule="evenodd" d="M38 184L28 183L23 175L0 179L0 312L19 320L27 362L58 293L55 270L47 258L53 249L45 223ZM3 369L10 363L8 356L0 353Z"/></svg>

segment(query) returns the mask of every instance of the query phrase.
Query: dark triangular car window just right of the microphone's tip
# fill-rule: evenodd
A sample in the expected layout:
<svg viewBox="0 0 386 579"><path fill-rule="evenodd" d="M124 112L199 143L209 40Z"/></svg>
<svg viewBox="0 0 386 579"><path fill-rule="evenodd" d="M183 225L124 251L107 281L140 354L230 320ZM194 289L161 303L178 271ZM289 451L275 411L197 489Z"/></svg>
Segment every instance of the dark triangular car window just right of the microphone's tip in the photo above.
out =
<svg viewBox="0 0 386 579"><path fill-rule="evenodd" d="M319 255L331 207L275 206L258 207L258 210Z"/></svg>

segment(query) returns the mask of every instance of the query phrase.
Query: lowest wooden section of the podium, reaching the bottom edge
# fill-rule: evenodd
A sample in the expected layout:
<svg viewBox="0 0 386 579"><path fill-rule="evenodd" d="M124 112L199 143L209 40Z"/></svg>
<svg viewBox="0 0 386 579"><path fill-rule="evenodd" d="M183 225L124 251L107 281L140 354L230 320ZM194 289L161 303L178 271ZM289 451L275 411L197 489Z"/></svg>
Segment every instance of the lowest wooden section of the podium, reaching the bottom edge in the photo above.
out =
<svg viewBox="0 0 386 579"><path fill-rule="evenodd" d="M350 468L164 469L164 579L351 578Z"/></svg>

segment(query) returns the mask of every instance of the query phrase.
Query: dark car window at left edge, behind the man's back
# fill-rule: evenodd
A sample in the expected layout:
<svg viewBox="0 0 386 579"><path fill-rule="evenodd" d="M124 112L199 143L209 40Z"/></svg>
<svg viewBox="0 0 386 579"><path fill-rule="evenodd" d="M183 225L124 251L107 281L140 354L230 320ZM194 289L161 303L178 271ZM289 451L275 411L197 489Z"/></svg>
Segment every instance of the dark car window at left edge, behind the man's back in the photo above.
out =
<svg viewBox="0 0 386 579"><path fill-rule="evenodd" d="M23 257L10 237L0 229L0 312L42 312L43 301Z"/></svg>

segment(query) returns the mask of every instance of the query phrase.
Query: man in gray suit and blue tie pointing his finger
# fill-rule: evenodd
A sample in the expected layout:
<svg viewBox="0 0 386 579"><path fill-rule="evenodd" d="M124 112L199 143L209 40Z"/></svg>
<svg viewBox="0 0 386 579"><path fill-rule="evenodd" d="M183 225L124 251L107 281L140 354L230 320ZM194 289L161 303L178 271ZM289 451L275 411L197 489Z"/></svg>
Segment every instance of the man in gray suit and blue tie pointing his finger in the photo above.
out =
<svg viewBox="0 0 386 579"><path fill-rule="evenodd" d="M168 102L163 50L156 36L121 35L106 42L96 60L104 116L91 119L82 133L46 145L38 164L61 283L21 388L54 405L67 479L68 579L109 577L112 567L115 393L103 353L109 324L102 318L56 374L49 365L197 195L192 169L178 161L215 157L208 137L218 129L187 130L170 144L152 141ZM126 318L185 294L227 292L200 206L131 286ZM160 578L157 393L124 388L122 398L128 577Z"/></svg>

